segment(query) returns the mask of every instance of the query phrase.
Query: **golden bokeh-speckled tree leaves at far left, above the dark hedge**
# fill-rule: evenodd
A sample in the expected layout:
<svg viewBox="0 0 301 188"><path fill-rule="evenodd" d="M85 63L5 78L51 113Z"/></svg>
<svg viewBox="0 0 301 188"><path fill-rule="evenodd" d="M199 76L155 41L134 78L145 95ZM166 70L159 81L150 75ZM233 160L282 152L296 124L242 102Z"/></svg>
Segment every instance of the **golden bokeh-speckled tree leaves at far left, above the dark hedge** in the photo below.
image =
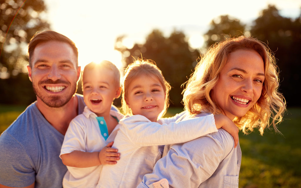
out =
<svg viewBox="0 0 301 188"><path fill-rule="evenodd" d="M0 4L0 69L2 78L24 72L27 63L24 46L39 30L49 28L40 17L45 12L42 0L5 0Z"/></svg>

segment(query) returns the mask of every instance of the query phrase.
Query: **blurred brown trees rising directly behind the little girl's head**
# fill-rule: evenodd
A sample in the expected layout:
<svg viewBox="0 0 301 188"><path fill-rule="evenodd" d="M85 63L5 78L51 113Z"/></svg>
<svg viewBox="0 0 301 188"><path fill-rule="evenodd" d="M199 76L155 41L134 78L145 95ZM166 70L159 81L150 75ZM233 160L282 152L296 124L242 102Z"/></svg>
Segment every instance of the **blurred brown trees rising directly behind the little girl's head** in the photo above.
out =
<svg viewBox="0 0 301 188"><path fill-rule="evenodd" d="M172 86L170 91L171 106L182 106L181 85L188 80L200 53L191 49L185 34L174 30L169 37L154 29L144 44L135 44L132 49L121 45L125 36L116 39L115 49L123 55L123 61L128 65L139 57L154 60L165 79Z"/></svg>

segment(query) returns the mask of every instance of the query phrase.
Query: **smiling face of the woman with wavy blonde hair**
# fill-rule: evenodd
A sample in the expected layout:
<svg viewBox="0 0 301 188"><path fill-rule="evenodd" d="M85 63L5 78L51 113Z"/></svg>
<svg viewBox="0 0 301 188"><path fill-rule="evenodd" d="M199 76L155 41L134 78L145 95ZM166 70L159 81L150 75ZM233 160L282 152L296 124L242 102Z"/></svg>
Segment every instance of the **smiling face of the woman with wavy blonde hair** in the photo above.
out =
<svg viewBox="0 0 301 188"><path fill-rule="evenodd" d="M212 99L230 119L244 116L259 99L265 79L264 64L253 50L232 52L212 89Z"/></svg>

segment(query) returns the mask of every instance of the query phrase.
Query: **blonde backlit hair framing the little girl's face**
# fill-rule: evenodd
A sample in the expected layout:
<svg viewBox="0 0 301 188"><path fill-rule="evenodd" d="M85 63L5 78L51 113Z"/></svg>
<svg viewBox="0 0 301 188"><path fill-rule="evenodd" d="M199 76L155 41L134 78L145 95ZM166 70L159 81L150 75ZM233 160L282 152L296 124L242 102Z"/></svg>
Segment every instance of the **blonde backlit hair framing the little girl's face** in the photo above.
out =
<svg viewBox="0 0 301 188"><path fill-rule="evenodd" d="M125 71L124 71L124 79L123 79L123 93L122 93L122 100L121 100L121 109L123 110L125 115L132 116L133 112L126 104L126 98L128 97L128 88L129 85L139 76L148 76L148 77L156 77L160 84L163 87L163 91L165 93L165 103L164 109L159 114L157 119L160 119L164 116L169 106L169 91L171 89L169 83L165 80L164 76L162 75L161 70L157 67L156 63L153 60L147 59L138 59L135 60L133 63L129 64Z"/></svg>

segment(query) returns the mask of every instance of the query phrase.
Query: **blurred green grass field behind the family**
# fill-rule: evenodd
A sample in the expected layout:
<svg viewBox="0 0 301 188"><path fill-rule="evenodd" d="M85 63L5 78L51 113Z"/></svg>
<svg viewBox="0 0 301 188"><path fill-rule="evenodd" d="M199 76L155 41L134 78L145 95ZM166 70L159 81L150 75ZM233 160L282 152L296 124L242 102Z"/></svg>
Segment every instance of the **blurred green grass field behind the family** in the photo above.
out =
<svg viewBox="0 0 301 188"><path fill-rule="evenodd" d="M0 105L0 133L2 133L26 106ZM181 112L170 108L166 116ZM242 162L239 174L240 188L301 188L301 108L289 108L284 122L278 126L281 134L266 130L248 135L240 133Z"/></svg>

